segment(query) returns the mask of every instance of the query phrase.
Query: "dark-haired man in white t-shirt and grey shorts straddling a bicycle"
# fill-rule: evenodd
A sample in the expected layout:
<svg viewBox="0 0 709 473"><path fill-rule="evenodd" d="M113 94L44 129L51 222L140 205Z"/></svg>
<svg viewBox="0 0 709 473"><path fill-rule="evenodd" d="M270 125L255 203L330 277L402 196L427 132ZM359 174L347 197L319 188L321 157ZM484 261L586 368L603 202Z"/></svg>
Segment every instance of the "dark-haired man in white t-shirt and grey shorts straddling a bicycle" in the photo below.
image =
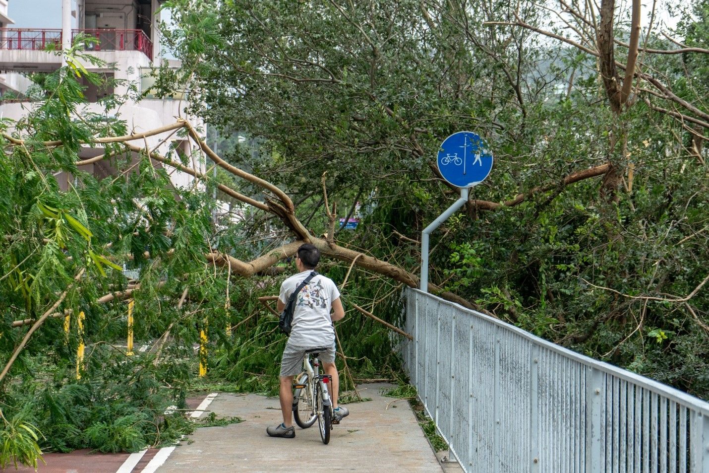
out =
<svg viewBox="0 0 709 473"><path fill-rule="evenodd" d="M305 281L318 266L320 251L311 244L303 244L296 252L296 268L298 274L291 276L281 284L277 310L282 312L294 290ZM333 313L330 314L330 310ZM306 350L328 347L320 353L325 373L333 377L330 386L330 397L333 399L333 417L340 420L349 414L347 408L337 406L337 391L340 388L340 378L335 366L335 327L333 322L345 317L342 308L340 291L333 280L318 274L303 287L297 295L296 307L293 313L291 336L286 343L281 360L280 400L283 423L266 429L271 437L293 438L296 429L292 425L293 415L293 379L301 372L303 357Z"/></svg>

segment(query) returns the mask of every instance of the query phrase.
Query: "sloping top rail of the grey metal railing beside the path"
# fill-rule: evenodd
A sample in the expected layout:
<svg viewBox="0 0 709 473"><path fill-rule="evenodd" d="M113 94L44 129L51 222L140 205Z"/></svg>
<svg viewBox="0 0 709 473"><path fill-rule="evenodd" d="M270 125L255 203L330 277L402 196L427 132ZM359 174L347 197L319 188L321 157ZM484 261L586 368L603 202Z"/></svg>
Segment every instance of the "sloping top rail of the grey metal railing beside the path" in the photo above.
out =
<svg viewBox="0 0 709 473"><path fill-rule="evenodd" d="M588 366L589 368L598 369L599 371L603 371L606 374L613 375L617 378L623 379L625 381L629 381L630 383L635 384L637 386L641 386L642 388L649 389L650 391L660 394L661 396L664 396L664 397L670 399L671 401L676 401L678 403L681 403L683 406L691 408L694 411L701 413L702 415L709 416L709 403L708 402L703 401L702 399L697 398L695 396L691 396L690 394L680 391L679 389L673 388L672 386L662 384L659 381L654 381L653 379L649 379L649 378L642 376L640 374L632 373L632 371L627 371L627 369L618 368L618 366L613 366L612 364L605 363L605 361L598 361L596 359L586 357L586 355L582 355L582 354L574 352L573 350L570 350L568 348L564 348L560 345L554 344L552 342L548 342L545 339L537 337L536 335L532 335L530 332L525 332L525 330L522 330L519 327L515 327L514 325L510 325L507 322L503 322L502 320L498 320L495 317L490 317L489 315L485 315L485 314L478 312L476 310L464 308L462 305L452 303L448 300L438 297L437 295L425 293L422 290L419 290L416 288L408 288L408 290L413 291L418 294L421 294L421 295L425 295L428 298L435 299L435 300L439 301L440 303L450 305L454 308L462 310L463 312L467 312L470 315L473 315L474 317L479 317L481 319L484 319L488 322L498 325L498 327L502 327L505 330L508 330L510 332L514 332L516 335L519 335L520 337L524 337L524 338L530 340L530 342L532 342L540 347L544 347L545 349L549 349L552 352L557 352L558 354L561 354L562 356L564 356L566 358L573 359L574 361L578 361L579 363L584 364L585 366Z"/></svg>

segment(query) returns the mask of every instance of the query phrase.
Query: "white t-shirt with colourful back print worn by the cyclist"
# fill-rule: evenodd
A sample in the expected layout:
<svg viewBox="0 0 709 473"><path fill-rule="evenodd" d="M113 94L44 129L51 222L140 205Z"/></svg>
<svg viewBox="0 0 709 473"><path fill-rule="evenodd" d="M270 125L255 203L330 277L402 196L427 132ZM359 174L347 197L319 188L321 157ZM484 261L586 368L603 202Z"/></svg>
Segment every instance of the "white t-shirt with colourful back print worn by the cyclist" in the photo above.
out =
<svg viewBox="0 0 709 473"><path fill-rule="evenodd" d="M308 269L283 281L279 294L281 303L288 304L293 291L311 272ZM321 274L311 279L296 297L288 344L310 348L331 346L335 342L335 329L330 319L330 308L333 300L339 297L340 291L332 279Z"/></svg>

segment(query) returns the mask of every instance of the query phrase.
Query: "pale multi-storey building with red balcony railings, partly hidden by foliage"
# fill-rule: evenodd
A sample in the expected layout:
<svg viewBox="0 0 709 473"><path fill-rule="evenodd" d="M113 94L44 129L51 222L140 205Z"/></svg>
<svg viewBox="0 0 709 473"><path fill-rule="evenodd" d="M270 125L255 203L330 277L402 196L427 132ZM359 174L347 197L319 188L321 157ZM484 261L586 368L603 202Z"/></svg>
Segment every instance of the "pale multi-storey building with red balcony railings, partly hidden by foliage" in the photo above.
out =
<svg viewBox="0 0 709 473"><path fill-rule="evenodd" d="M6 119L20 119L26 114L26 109L32 104L23 99L24 92L30 86L26 77L29 72L50 72L61 66L59 55L48 53L48 44L62 44L60 28L13 28L13 21L8 16L9 2L18 1L28 5L28 0L0 0L0 95L13 99L0 102L0 116ZM59 0L57 0L59 1ZM86 46L87 53L103 60L105 67L94 67L84 64L86 69L106 77L125 80L138 85L141 92L149 91L153 81L150 78L152 67L164 65L179 67L179 62L163 59L160 56L160 31L157 23L160 21L160 4L162 0L72 0L72 16L76 28L72 29L72 38L84 33L96 38L96 43ZM21 6L21 8L23 7ZM16 6L13 6L16 8ZM38 12L40 15L41 12ZM60 24L60 18L57 18ZM114 90L97 89L85 82L85 96L89 100L87 111L102 112L103 107L96 101L111 92L123 94L128 91L127 85L117 85ZM9 95L10 94L10 95ZM124 120L128 131L140 133L160 126L174 123L177 118L188 119L191 124L204 128L199 117L188 116L189 96L184 92L167 99L158 99L147 94L145 98L123 104L112 110L111 116ZM199 159L198 153L191 153L191 147L186 140L181 141L169 133L147 138L147 144L157 148L162 154L169 153L169 146L177 140L177 146L188 156L192 168L199 172L205 170L205 163ZM135 144L145 146L142 139ZM101 148L86 147L81 158L92 158L102 153ZM135 158L135 157L134 157ZM160 163L156 163L160 165ZM99 161L82 168L93 173L97 178L104 178L116 173L108 161ZM57 175L60 186L67 187L72 179L69 175ZM188 186L193 178L185 173L172 173L175 186Z"/></svg>

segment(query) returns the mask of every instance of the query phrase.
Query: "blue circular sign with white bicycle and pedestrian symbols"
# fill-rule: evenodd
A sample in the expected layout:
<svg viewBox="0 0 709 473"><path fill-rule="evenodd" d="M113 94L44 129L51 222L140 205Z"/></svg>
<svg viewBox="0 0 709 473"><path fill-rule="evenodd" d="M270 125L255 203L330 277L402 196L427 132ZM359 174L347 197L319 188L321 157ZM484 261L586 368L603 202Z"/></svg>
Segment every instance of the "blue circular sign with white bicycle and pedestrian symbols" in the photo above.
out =
<svg viewBox="0 0 709 473"><path fill-rule="evenodd" d="M438 170L456 187L472 187L485 180L492 169L492 151L478 134L458 131L438 150Z"/></svg>

